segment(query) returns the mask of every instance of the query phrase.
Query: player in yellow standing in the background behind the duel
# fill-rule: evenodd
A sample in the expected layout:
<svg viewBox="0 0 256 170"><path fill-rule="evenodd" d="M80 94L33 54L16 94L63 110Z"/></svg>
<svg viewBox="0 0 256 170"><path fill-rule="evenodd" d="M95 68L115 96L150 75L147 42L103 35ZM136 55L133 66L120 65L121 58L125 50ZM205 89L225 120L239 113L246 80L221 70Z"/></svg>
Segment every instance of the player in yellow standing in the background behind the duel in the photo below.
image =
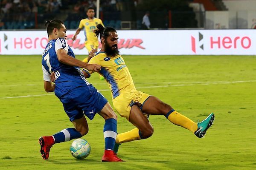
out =
<svg viewBox="0 0 256 170"><path fill-rule="evenodd" d="M102 20L99 18L95 18L95 12L93 8L88 8L87 9L87 18L82 19L79 23L78 28L76 29L76 33L73 35L72 40L76 40L76 36L80 33L80 31L84 28L84 35L85 35L85 41L84 41L84 46L87 49L88 52L90 52L92 49L98 49L99 47L99 40L98 37L95 36L93 33L93 30L96 29L96 26L98 24L102 24ZM83 59L83 62L88 62L90 60L90 56L85 59ZM100 76L99 79L103 80L104 77Z"/></svg>

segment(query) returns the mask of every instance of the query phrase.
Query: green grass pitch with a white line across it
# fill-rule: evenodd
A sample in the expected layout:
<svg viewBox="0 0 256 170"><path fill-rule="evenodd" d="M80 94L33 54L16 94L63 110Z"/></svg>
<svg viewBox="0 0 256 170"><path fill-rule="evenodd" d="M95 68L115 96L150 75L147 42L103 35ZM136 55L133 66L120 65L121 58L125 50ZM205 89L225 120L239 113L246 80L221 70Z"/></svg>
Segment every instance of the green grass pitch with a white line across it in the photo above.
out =
<svg viewBox="0 0 256 170"><path fill-rule="evenodd" d="M43 87L41 56L0 56L1 170L255 170L256 56L123 56L138 90L157 96L195 122L215 113L206 137L150 116L154 134L124 143L126 162L101 162L104 119L90 121L91 153L70 154L72 141L55 144L49 160L38 138L73 127L61 102ZM78 59L83 59L78 56ZM105 80L88 79L111 103ZM118 115L118 132L134 128Z"/></svg>

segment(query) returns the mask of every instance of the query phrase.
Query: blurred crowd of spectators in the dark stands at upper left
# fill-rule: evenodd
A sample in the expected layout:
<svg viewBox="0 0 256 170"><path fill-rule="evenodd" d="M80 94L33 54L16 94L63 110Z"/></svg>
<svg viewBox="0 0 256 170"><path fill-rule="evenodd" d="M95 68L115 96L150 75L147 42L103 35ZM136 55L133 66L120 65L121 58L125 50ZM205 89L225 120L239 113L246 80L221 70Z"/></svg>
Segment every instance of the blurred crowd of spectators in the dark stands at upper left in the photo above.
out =
<svg viewBox="0 0 256 170"><path fill-rule="evenodd" d="M122 11L124 1L100 0L100 11ZM97 0L0 0L0 21L33 20L35 13L56 14L61 10L85 14L87 8L96 8L96 3Z"/></svg>

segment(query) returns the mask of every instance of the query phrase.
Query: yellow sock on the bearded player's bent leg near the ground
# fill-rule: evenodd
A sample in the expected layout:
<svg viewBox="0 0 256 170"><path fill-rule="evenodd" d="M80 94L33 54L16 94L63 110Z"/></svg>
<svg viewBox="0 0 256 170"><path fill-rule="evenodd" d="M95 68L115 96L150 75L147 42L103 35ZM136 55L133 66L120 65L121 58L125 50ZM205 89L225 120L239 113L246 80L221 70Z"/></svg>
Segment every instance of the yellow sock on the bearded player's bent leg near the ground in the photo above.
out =
<svg viewBox="0 0 256 170"><path fill-rule="evenodd" d="M135 128L133 130L130 130L128 132L125 133L118 133L116 135L116 143L120 144L120 143L124 143L124 142L131 142L134 140L139 140L140 135L139 135L139 129Z"/></svg>

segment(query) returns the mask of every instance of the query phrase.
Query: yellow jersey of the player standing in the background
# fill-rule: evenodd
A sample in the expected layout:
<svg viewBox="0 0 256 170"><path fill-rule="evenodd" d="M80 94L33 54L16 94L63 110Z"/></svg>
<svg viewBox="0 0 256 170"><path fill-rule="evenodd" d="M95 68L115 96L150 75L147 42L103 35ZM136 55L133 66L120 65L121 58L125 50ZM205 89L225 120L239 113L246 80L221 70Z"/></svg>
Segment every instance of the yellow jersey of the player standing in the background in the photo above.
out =
<svg viewBox="0 0 256 170"><path fill-rule="evenodd" d="M93 29L96 29L96 25L101 24L102 26L102 20L99 18L93 18L92 20L89 20L88 18L85 18L80 21L79 28L84 28L84 35L85 35L85 41L96 41L98 42L98 37L95 36L93 33Z"/></svg>

